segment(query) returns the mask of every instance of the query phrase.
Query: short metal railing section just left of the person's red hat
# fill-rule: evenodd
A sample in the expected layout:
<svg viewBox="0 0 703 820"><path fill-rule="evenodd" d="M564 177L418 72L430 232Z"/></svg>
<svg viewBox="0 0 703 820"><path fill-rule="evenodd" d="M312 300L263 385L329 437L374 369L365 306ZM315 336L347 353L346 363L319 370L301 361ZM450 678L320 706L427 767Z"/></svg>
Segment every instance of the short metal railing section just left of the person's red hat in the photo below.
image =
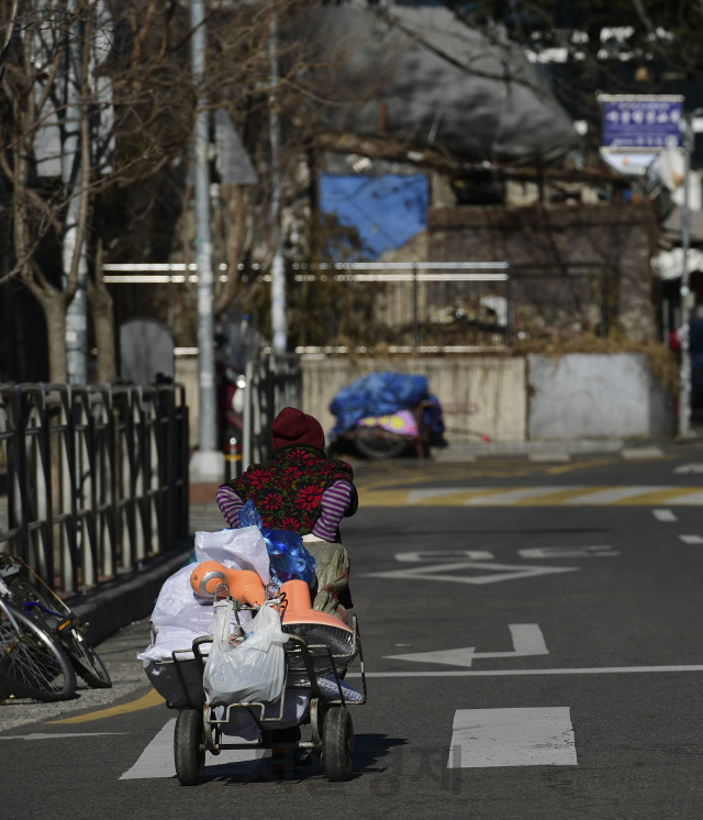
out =
<svg viewBox="0 0 703 820"><path fill-rule="evenodd" d="M274 455L271 422L284 407L300 408L302 376L298 356L264 355L246 366L242 469Z"/></svg>

